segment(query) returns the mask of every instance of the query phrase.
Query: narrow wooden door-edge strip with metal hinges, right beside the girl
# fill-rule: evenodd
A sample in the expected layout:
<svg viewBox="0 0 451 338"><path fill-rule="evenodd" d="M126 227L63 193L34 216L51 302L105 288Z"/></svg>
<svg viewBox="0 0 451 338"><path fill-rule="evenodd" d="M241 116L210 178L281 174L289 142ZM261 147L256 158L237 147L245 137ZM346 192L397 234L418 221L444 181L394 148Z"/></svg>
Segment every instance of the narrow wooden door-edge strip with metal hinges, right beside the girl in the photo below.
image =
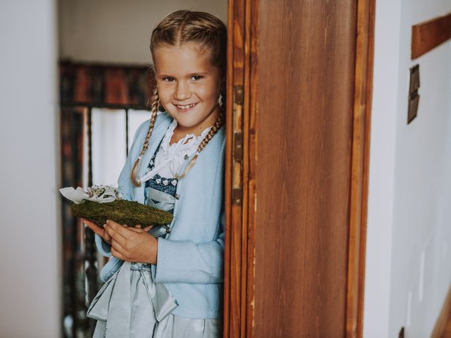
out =
<svg viewBox="0 0 451 338"><path fill-rule="evenodd" d="M226 90L226 180L225 180L225 213L226 241L224 249L224 304L223 304L223 337L247 337L245 325L249 296L247 291L247 206L249 194L249 176L243 173L249 170L249 7L252 1L228 1L228 65ZM255 21L255 20L254 20ZM257 69L257 68L255 68ZM250 84L250 86L249 86ZM255 87L255 86L253 86ZM242 98L237 100L239 90ZM252 100L255 101L255 100ZM254 130L254 129L253 129ZM236 145L235 134L241 132L241 161L234 158L233 148ZM233 202L234 189L241 190L241 202ZM235 190L236 192L236 190ZM235 196L236 198L236 196ZM251 337L251 336L249 336Z"/></svg>

